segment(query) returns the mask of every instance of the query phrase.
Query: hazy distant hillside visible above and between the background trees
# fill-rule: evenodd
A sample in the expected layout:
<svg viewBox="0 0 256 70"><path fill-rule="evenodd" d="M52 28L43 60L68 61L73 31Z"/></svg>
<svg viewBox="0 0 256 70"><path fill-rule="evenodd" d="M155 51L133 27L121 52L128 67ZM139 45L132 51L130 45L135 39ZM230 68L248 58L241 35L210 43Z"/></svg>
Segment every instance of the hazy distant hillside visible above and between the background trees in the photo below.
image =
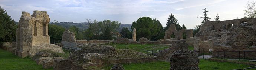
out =
<svg viewBox="0 0 256 70"><path fill-rule="evenodd" d="M76 27L78 27L78 28L81 29L81 30L88 29L88 23L87 23L87 22L82 22L82 23L73 23L73 22L59 22L59 23L54 23L54 22L50 22L50 24L60 25L60 26L65 27L65 28L69 28L69 27L75 25ZM121 24L121 25L119 26L119 30L118 30L118 31L121 31L121 29L122 29L123 27L128 27L129 30L131 30L131 26L132 26L132 24Z"/></svg>

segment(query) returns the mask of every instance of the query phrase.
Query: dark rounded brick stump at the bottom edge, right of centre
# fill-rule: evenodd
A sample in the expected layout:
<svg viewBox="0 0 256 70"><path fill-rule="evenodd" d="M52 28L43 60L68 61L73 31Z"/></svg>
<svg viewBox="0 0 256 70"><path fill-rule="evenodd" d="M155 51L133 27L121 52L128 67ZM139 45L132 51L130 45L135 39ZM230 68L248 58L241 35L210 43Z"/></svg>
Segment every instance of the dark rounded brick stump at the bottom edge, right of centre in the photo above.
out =
<svg viewBox="0 0 256 70"><path fill-rule="evenodd" d="M199 59L190 50L177 50L170 58L170 70L199 70Z"/></svg>

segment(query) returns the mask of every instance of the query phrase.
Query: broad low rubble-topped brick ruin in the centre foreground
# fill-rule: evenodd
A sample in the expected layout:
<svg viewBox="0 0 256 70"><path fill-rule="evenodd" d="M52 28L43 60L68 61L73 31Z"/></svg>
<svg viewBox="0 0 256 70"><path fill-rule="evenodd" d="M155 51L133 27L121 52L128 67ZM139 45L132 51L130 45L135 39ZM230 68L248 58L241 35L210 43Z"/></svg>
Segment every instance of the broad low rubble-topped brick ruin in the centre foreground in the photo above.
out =
<svg viewBox="0 0 256 70"><path fill-rule="evenodd" d="M127 49L115 49L108 45L84 45L82 50L71 52L67 59L54 60L55 70L90 70L89 66L157 61L154 57ZM120 66L116 66L118 69ZM116 68L114 67L114 68ZM115 70L115 69L114 69Z"/></svg>

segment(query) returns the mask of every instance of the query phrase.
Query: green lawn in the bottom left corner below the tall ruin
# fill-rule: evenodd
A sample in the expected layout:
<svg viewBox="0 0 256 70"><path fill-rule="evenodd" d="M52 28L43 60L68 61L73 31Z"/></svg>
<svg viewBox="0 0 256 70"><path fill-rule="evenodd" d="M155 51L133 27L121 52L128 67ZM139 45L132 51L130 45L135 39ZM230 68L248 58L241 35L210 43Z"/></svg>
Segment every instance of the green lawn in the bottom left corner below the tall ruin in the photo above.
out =
<svg viewBox="0 0 256 70"><path fill-rule="evenodd" d="M37 65L30 57L20 58L0 48L0 70L53 70L53 67L43 69L42 65Z"/></svg>

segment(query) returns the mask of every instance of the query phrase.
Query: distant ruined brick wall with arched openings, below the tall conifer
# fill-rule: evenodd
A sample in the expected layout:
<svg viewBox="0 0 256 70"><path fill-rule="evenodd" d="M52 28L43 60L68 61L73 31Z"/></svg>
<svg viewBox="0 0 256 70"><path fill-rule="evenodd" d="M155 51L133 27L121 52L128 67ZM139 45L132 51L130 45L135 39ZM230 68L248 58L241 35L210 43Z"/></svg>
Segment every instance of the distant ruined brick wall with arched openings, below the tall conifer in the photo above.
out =
<svg viewBox="0 0 256 70"><path fill-rule="evenodd" d="M178 40L183 39L182 38L183 32L186 33L186 38L193 37L192 29L189 29L189 30L182 29L180 31L177 31L175 25L171 24L169 29L167 31L165 31L164 39L171 39L171 35L173 35L173 34L175 35L175 38L178 38Z"/></svg>

